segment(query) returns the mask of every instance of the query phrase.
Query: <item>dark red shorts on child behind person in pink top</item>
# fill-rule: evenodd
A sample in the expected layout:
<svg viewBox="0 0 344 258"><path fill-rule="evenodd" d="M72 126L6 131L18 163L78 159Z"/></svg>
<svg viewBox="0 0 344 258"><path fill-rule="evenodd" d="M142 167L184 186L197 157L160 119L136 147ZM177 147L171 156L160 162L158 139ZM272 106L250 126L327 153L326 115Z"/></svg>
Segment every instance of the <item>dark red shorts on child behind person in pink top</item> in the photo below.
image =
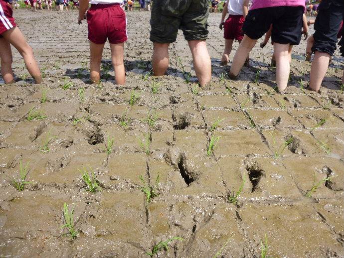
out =
<svg viewBox="0 0 344 258"><path fill-rule="evenodd" d="M242 25L245 18L243 15L229 14L228 19L224 22L224 35L225 39L242 40L244 32L242 31Z"/></svg>

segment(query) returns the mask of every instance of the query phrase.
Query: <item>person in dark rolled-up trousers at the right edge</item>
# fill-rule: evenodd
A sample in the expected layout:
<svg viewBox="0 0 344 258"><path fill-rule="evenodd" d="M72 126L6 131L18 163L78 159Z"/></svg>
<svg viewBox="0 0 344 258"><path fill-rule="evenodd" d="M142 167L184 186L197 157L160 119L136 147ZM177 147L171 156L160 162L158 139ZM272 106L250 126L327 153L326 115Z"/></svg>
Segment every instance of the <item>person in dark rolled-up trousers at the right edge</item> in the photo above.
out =
<svg viewBox="0 0 344 258"><path fill-rule="evenodd" d="M312 53L314 58L311 68L310 89L318 92L329 67L330 57L337 49L337 35L344 18L343 0L322 0L314 23L315 33ZM344 56L344 39L339 42ZM344 84L344 72L342 83Z"/></svg>

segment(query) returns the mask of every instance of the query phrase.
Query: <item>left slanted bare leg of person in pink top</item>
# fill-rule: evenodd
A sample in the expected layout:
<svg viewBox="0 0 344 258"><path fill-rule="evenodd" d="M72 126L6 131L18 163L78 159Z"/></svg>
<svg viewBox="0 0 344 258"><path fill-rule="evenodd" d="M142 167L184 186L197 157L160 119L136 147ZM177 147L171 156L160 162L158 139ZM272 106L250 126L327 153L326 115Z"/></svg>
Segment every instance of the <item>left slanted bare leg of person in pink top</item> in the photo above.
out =
<svg viewBox="0 0 344 258"><path fill-rule="evenodd" d="M236 76L239 74L242 66L245 64L247 60L247 56L250 53L251 49L257 43L256 39L251 39L248 36L244 35L236 53L234 55L234 59L232 62L232 66L230 67L229 77L231 79L235 79Z"/></svg>

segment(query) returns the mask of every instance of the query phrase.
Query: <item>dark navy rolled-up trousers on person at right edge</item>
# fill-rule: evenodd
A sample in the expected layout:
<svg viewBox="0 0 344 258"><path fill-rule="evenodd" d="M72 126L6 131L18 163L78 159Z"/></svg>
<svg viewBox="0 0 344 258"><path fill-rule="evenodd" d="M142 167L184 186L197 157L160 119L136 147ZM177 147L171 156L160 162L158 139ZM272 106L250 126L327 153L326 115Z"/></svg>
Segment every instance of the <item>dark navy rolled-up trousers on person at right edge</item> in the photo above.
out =
<svg viewBox="0 0 344 258"><path fill-rule="evenodd" d="M314 23L315 33L312 51L333 55L337 46L337 34L344 18L343 0L322 0L318 6L318 15ZM340 41L342 56L344 56L344 41Z"/></svg>

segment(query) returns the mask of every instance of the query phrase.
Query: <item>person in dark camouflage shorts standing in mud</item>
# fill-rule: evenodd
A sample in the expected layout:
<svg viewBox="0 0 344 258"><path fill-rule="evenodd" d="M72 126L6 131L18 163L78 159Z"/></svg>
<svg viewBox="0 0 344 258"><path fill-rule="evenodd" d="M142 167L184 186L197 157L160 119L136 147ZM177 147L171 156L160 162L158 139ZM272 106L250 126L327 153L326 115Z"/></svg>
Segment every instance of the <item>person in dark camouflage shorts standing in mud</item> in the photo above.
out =
<svg viewBox="0 0 344 258"><path fill-rule="evenodd" d="M154 0L151 14L154 75L169 67L169 45L181 29L192 53L193 67L201 87L211 79L211 62L205 40L208 36L208 0Z"/></svg>

